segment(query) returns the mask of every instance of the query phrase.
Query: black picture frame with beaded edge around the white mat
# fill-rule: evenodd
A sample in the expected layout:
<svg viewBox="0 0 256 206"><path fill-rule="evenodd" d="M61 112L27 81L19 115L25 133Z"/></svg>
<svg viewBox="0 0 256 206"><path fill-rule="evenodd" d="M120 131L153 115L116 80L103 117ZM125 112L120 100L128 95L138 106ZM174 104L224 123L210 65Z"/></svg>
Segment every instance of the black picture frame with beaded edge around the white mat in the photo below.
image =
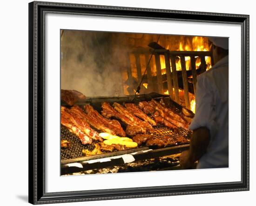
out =
<svg viewBox="0 0 256 206"><path fill-rule="evenodd" d="M29 202L47 204L90 200L155 197L249 190L249 15L96 6L54 2L29 3ZM112 16L126 18L186 20L238 24L242 28L242 124L241 181L181 186L45 192L45 13Z"/></svg>

